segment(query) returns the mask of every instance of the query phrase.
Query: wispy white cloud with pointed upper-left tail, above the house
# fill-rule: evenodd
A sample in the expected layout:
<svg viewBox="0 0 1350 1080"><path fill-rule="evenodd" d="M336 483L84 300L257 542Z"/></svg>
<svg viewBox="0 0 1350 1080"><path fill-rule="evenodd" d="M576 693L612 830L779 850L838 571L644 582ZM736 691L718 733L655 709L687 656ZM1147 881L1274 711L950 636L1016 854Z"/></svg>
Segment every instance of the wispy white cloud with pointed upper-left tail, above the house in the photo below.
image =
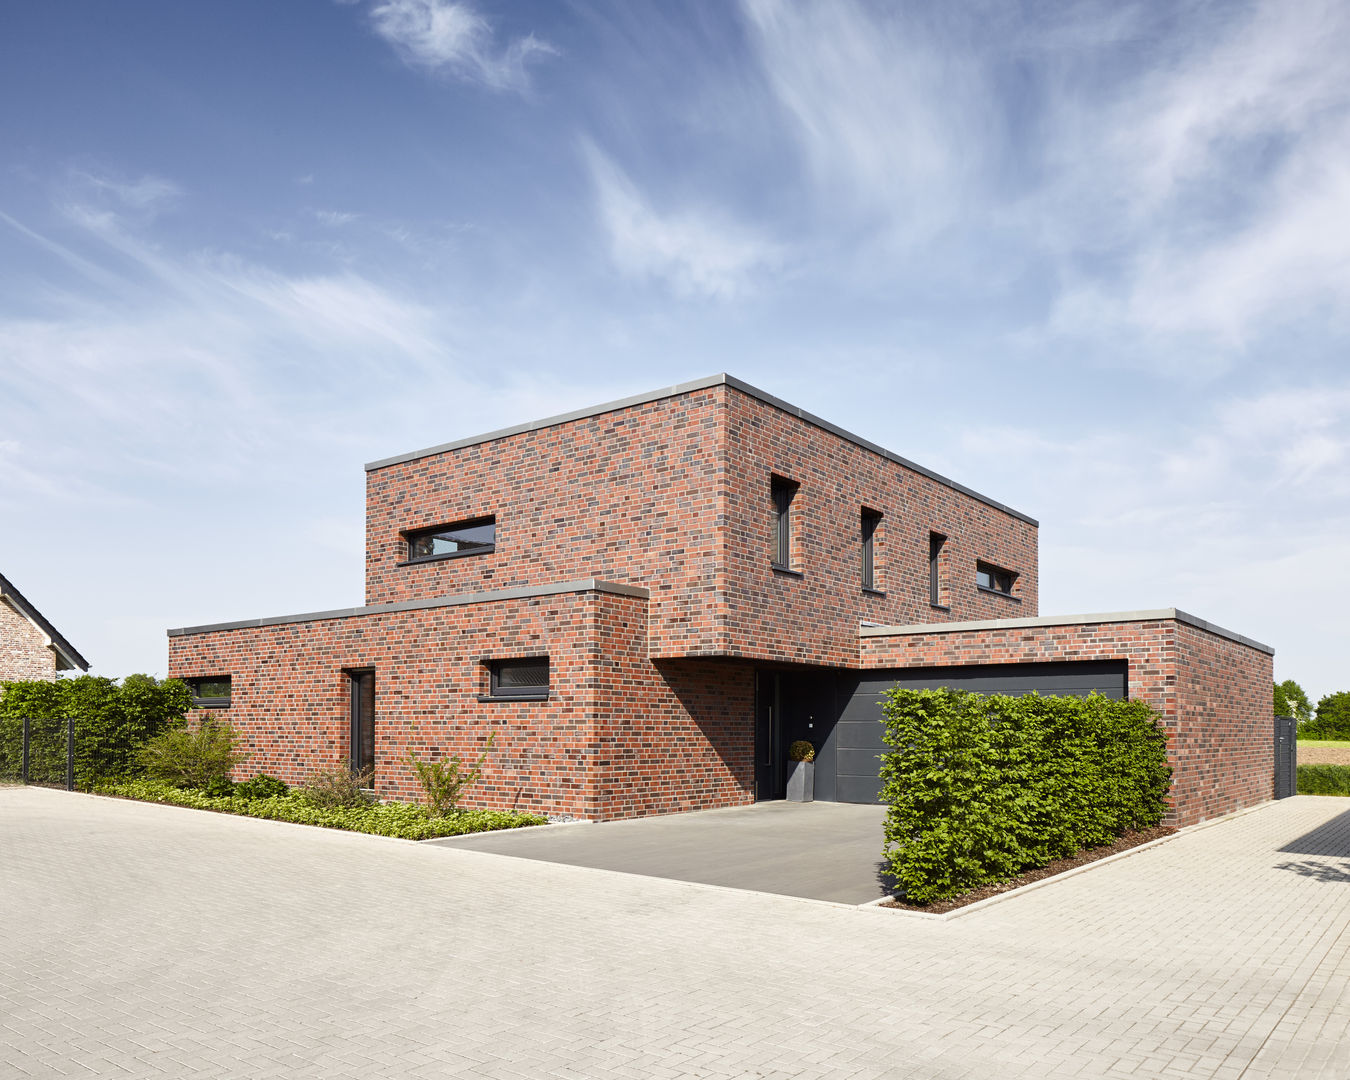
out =
<svg viewBox="0 0 1350 1080"><path fill-rule="evenodd" d="M666 282L678 296L730 300L783 259L780 244L707 209L662 213L591 144L583 147L601 223L618 269Z"/></svg>

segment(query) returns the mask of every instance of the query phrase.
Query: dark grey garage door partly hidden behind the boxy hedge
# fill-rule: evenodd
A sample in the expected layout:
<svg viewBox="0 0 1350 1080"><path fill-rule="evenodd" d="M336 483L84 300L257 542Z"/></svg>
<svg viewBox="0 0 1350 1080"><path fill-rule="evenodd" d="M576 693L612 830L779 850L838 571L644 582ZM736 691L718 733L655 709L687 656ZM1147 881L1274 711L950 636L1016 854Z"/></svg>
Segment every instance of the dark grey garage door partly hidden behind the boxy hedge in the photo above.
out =
<svg viewBox="0 0 1350 1080"><path fill-rule="evenodd" d="M950 686L980 694L1062 694L1087 697L1094 690L1108 698L1126 695L1125 660L1081 660L1048 664L988 664L971 667L905 668L867 672L840 686L834 725L834 801L878 802L882 780L882 694L892 686L936 690Z"/></svg>

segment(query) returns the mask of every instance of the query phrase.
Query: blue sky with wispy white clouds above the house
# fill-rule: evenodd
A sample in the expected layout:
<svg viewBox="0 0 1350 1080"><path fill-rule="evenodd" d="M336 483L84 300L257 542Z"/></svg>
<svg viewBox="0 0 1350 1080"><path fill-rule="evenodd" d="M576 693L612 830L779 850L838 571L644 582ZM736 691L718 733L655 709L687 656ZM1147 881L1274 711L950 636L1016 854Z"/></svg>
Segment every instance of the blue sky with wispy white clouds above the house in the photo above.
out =
<svg viewBox="0 0 1350 1080"><path fill-rule="evenodd" d="M11 3L0 568L362 599L362 463L730 371L1350 688L1343 3Z"/></svg>

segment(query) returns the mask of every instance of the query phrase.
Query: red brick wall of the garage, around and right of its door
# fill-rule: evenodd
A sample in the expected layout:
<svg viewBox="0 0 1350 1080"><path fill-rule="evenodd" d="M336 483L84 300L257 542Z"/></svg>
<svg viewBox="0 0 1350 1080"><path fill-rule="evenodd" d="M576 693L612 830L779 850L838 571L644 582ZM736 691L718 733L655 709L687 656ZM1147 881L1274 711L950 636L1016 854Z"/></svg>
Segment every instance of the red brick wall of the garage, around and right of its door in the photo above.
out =
<svg viewBox="0 0 1350 1080"><path fill-rule="evenodd" d="M868 670L1126 660L1130 698L1161 713L1168 733L1170 824L1274 795L1270 655L1174 618L863 637L861 660Z"/></svg>

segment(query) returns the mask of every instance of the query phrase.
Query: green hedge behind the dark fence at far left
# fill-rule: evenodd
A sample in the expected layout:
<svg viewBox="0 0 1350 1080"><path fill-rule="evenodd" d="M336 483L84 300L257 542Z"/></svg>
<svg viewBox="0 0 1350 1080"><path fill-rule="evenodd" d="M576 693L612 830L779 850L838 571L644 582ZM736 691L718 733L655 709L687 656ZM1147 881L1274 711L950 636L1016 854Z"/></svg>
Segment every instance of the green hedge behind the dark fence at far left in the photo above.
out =
<svg viewBox="0 0 1350 1080"><path fill-rule="evenodd" d="M28 775L59 783L66 775L65 725L76 721L76 784L103 776L136 775L136 753L147 738L182 722L192 693L181 679L151 675L116 679L81 675L55 682L0 683L0 776L18 778L23 765L23 720L31 725Z"/></svg>

